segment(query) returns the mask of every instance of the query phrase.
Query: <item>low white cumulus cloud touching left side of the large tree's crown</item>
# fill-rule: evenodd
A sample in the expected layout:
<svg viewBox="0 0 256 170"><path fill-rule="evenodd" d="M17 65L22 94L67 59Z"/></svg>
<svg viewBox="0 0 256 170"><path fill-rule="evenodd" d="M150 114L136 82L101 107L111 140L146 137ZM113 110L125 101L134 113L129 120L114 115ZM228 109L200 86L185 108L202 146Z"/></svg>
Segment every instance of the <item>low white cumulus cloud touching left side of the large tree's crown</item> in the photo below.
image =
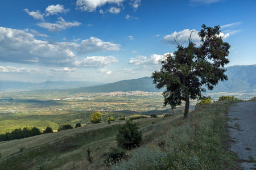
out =
<svg viewBox="0 0 256 170"><path fill-rule="evenodd" d="M152 54L149 58L146 56L138 56L136 58L131 58L129 63L133 65L158 65L168 54L170 53L163 55Z"/></svg>

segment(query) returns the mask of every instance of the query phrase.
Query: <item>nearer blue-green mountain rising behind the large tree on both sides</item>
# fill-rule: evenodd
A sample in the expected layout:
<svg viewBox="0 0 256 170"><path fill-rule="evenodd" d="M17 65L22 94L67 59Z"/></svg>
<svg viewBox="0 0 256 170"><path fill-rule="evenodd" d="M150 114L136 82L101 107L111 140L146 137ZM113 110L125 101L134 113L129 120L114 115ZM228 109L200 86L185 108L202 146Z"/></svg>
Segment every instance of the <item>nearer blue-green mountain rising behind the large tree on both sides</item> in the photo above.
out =
<svg viewBox="0 0 256 170"><path fill-rule="evenodd" d="M227 81L219 82L212 92L251 92L256 88L256 65L231 66L226 68ZM114 92L114 91L158 92L150 77L122 80L93 87L70 89L69 92ZM161 91L161 90L160 90ZM163 91L163 90L162 90ZM209 91L208 91L209 92Z"/></svg>

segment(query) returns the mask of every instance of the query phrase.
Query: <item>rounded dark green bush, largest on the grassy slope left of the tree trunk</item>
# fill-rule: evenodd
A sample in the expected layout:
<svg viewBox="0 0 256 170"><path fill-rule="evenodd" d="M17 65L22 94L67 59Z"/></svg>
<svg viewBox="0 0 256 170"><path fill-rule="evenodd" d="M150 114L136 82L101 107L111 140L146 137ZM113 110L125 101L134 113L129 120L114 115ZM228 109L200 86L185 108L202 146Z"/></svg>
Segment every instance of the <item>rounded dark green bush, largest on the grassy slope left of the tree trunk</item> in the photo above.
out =
<svg viewBox="0 0 256 170"><path fill-rule="evenodd" d="M134 147L140 146L142 142L142 131L139 129L139 124L128 120L120 126L116 136L117 145L126 150L130 150Z"/></svg>

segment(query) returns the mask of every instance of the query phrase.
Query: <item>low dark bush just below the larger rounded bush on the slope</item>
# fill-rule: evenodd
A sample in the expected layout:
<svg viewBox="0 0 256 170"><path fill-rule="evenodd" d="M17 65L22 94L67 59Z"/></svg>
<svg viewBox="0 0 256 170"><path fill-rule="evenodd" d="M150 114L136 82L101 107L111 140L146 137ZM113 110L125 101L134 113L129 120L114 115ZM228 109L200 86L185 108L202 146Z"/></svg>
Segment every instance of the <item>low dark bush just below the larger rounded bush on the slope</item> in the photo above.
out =
<svg viewBox="0 0 256 170"><path fill-rule="evenodd" d="M126 150L120 147L110 147L110 152L108 152L104 163L107 165L117 164L118 162L126 158Z"/></svg>

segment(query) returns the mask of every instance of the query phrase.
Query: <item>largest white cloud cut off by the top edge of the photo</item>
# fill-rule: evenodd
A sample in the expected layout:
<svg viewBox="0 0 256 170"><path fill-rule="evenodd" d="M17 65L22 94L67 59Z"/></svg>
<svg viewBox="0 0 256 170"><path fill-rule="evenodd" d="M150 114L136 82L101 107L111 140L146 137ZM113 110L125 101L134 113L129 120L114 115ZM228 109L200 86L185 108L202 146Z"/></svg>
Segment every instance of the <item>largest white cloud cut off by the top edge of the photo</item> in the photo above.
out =
<svg viewBox="0 0 256 170"><path fill-rule="evenodd" d="M104 6L106 3L121 5L125 0L77 0L76 7L81 11L93 12L97 7Z"/></svg>

